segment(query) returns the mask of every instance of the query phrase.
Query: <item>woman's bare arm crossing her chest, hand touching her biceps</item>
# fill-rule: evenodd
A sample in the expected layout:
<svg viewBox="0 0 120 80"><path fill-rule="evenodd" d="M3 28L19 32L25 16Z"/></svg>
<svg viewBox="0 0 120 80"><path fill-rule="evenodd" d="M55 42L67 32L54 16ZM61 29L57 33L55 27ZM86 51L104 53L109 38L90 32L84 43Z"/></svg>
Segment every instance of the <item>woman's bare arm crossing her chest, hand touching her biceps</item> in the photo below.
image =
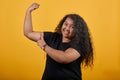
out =
<svg viewBox="0 0 120 80"><path fill-rule="evenodd" d="M40 40L38 40L38 46L42 47L45 45L45 41L43 39L43 34L40 37ZM56 50L51 48L50 46L45 46L44 50L53 60L62 63L62 64L68 64L73 62L74 60L78 59L80 57L80 53L73 49L68 48L66 51Z"/></svg>

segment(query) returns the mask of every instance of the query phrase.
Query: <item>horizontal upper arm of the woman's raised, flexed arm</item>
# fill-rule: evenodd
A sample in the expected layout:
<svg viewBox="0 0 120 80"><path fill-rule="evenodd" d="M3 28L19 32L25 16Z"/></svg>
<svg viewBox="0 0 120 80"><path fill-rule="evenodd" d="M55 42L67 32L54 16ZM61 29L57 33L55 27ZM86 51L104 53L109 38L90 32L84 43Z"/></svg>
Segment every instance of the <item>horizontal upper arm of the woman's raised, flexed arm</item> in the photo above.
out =
<svg viewBox="0 0 120 80"><path fill-rule="evenodd" d="M33 41L38 41L40 39L40 35L43 35L43 32L30 32L27 35L25 35L27 38Z"/></svg>

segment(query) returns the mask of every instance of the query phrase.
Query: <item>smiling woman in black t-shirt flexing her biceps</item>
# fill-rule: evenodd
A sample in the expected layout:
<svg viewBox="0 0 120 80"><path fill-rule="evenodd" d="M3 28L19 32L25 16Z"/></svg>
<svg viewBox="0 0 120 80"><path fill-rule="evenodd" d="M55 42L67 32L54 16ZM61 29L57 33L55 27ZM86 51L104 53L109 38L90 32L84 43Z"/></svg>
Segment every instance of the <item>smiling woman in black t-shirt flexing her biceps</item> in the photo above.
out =
<svg viewBox="0 0 120 80"><path fill-rule="evenodd" d="M77 14L68 14L55 32L35 32L31 12L39 8L32 4L26 12L24 35L37 42L47 54L42 80L82 80L81 64L93 65L93 48L87 24Z"/></svg>

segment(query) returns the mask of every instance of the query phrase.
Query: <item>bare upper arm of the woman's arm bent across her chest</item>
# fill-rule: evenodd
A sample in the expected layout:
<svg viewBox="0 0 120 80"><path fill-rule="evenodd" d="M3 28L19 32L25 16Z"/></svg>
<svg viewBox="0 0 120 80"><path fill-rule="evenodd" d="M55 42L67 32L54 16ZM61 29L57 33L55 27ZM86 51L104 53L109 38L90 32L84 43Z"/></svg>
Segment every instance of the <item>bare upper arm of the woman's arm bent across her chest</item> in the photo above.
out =
<svg viewBox="0 0 120 80"><path fill-rule="evenodd" d="M76 49L68 48L65 51L63 63L73 62L74 60L78 59L80 56L81 56L80 53Z"/></svg>

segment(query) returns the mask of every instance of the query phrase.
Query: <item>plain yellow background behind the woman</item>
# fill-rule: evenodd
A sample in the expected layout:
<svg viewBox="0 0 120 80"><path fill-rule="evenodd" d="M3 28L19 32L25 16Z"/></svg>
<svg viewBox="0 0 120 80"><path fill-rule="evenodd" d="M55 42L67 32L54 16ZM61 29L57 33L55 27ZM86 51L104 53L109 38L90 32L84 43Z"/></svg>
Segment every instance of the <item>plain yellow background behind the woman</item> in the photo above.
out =
<svg viewBox="0 0 120 80"><path fill-rule="evenodd" d="M120 0L1 0L0 80L40 80L45 53L23 35L24 16L33 2L35 31L53 31L68 13L87 22L94 43L93 69L82 69L83 80L120 80Z"/></svg>

